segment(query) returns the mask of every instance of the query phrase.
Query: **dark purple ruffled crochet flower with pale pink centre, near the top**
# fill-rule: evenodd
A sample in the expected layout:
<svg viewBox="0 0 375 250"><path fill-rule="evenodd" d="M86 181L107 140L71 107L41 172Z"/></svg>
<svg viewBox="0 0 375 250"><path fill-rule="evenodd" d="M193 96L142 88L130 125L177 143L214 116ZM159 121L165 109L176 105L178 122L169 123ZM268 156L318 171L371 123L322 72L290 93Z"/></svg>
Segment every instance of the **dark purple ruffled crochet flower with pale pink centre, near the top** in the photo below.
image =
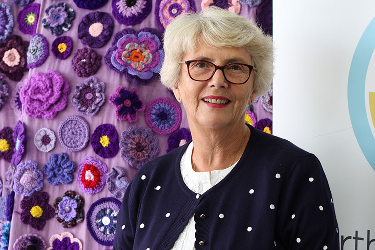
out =
<svg viewBox="0 0 375 250"><path fill-rule="evenodd" d="M78 25L78 38L91 48L101 48L113 33L113 20L106 12L91 12Z"/></svg>

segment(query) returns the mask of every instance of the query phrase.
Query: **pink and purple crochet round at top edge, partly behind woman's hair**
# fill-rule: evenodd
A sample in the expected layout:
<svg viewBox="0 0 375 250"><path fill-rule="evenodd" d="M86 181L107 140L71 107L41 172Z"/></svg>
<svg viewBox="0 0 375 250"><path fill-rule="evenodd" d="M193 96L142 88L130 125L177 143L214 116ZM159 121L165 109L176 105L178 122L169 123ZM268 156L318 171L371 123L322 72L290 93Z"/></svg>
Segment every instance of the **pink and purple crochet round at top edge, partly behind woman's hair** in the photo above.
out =
<svg viewBox="0 0 375 250"><path fill-rule="evenodd" d="M162 32L174 18L187 12L195 12L193 0L156 0L155 21Z"/></svg>

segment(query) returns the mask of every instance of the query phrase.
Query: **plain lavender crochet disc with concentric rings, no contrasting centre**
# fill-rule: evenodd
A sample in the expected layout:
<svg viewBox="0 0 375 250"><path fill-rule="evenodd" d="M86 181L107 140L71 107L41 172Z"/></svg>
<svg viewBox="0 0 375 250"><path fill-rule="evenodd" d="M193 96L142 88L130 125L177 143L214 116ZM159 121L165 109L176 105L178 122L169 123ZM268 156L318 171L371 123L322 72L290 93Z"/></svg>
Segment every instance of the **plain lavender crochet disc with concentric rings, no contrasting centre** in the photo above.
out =
<svg viewBox="0 0 375 250"><path fill-rule="evenodd" d="M66 117L58 126L57 135L61 145L68 151L83 150L89 141L89 123L78 115Z"/></svg>

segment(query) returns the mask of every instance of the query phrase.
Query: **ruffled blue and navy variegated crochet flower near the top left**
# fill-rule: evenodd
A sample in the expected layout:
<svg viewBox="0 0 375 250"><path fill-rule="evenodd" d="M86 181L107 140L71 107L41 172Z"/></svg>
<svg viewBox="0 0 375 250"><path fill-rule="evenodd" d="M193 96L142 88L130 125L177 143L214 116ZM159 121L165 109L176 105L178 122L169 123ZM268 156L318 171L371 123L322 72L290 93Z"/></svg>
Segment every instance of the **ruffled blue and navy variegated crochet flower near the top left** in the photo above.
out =
<svg viewBox="0 0 375 250"><path fill-rule="evenodd" d="M66 3L51 4L45 10L47 16L43 17L43 27L51 30L52 35L59 36L68 31L75 18L74 9L69 8Z"/></svg>

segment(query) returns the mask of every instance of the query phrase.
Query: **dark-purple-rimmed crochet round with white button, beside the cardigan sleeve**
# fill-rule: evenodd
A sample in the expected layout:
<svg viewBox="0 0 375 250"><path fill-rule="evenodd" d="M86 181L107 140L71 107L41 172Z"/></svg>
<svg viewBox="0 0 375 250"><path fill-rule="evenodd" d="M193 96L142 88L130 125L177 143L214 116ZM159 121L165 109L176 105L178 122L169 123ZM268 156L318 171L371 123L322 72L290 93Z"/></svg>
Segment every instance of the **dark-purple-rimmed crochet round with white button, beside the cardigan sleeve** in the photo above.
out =
<svg viewBox="0 0 375 250"><path fill-rule="evenodd" d="M90 206L86 215L87 229L99 244L113 245L120 207L121 202L112 197L101 198Z"/></svg>

